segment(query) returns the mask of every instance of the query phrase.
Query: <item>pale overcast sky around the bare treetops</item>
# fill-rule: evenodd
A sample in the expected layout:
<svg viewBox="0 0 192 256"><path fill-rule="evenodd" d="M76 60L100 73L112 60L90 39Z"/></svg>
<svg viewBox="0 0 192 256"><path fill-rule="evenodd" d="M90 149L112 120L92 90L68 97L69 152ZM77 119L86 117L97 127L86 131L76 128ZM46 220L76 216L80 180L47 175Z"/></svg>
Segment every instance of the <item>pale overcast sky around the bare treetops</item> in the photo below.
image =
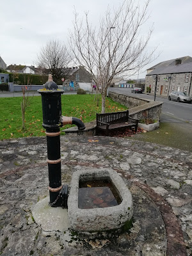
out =
<svg viewBox="0 0 192 256"><path fill-rule="evenodd" d="M143 3L145 0L139 0ZM0 0L0 56L6 65L36 65L36 55L51 39L67 44L68 29L72 29L74 7L83 15L89 11L93 24L109 6L120 0ZM144 30L154 23L148 49L158 45L160 56L144 68L161 61L192 56L192 0L151 0Z"/></svg>

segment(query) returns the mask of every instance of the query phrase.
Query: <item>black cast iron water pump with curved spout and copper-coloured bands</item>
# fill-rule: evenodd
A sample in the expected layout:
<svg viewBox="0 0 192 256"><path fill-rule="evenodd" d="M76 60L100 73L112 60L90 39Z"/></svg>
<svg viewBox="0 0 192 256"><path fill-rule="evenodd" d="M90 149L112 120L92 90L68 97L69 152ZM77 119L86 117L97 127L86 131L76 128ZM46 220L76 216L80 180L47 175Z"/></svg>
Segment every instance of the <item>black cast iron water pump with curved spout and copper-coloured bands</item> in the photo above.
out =
<svg viewBox="0 0 192 256"><path fill-rule="evenodd" d="M67 208L68 187L61 185L61 152L60 152L60 127L64 124L76 124L83 130L84 124L78 118L61 116L61 94L58 86L49 75L45 88L38 90L42 95L43 127L47 136L47 162L49 170L49 204L52 207L62 206ZM79 121L78 121L79 120Z"/></svg>

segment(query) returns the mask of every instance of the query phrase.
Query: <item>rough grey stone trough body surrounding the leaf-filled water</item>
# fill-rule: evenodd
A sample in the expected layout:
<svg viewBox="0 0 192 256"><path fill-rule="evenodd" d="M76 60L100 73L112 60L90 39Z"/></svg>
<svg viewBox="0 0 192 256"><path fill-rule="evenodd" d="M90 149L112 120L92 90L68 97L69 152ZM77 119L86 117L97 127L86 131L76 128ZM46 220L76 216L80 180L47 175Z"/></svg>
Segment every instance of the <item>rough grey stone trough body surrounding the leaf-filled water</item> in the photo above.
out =
<svg viewBox="0 0 192 256"><path fill-rule="evenodd" d="M100 179L111 180L122 202L112 207L79 209L79 180ZM72 175L68 196L68 223L72 230L77 232L94 232L118 229L131 220L132 210L132 195L124 180L114 170L109 168L89 171L79 170Z"/></svg>

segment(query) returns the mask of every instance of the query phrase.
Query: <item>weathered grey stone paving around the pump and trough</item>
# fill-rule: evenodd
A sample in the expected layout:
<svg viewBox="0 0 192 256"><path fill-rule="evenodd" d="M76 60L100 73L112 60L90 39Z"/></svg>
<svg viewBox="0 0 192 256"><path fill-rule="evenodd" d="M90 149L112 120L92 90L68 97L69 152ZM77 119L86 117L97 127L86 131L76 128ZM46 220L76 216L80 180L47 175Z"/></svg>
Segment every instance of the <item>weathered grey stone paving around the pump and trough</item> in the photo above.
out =
<svg viewBox="0 0 192 256"><path fill-rule="evenodd" d="M43 230L33 218L49 195L45 137L4 140L0 148L1 255L192 255L190 152L127 138L61 136L62 184L76 170L112 168L132 193L131 232L90 240Z"/></svg>

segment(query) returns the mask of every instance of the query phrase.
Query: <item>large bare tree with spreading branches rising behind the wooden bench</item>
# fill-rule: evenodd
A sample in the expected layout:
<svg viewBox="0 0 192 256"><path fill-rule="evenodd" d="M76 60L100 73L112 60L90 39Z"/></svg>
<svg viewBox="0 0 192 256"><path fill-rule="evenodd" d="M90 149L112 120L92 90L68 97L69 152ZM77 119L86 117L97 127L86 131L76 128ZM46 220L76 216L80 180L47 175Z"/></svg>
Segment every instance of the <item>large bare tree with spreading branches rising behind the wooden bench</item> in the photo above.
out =
<svg viewBox="0 0 192 256"><path fill-rule="evenodd" d="M102 95L102 113L105 113L106 92L115 76L132 76L152 61L147 44L152 28L146 36L141 26L148 19L148 0L142 10L134 0L124 0L119 8L108 8L100 19L99 28L88 20L79 19L75 12L74 31L69 34L69 45L76 61L90 71Z"/></svg>

